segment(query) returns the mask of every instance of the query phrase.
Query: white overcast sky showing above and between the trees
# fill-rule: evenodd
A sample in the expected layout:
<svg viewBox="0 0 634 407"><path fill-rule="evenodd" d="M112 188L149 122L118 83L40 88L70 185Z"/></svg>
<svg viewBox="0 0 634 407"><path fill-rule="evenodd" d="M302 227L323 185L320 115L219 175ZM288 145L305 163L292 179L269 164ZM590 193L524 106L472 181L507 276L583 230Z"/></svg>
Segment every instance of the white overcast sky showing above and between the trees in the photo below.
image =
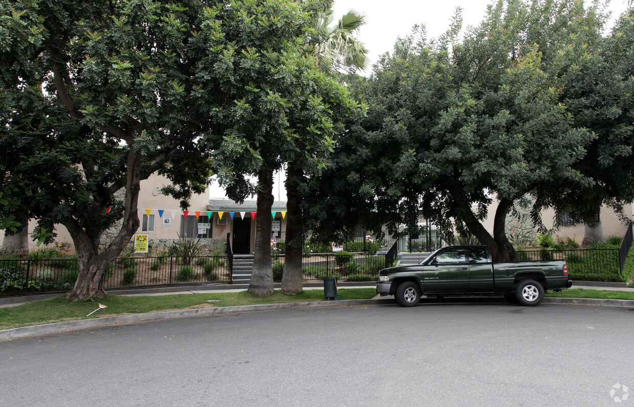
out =
<svg viewBox="0 0 634 407"><path fill-rule="evenodd" d="M396 39L410 34L413 25L425 25L429 37L437 37L447 30L456 8L460 7L464 30L468 25L478 25L482 21L489 3L490 0L335 0L333 9L335 21L350 9L365 14L366 23L358 36L369 51L368 68L362 73L367 76L378 56L391 51ZM624 0L611 1L611 20L616 20L624 11L625 3ZM276 175L275 181L275 201L286 201L280 175ZM224 190L217 184L211 185L209 194L217 198L225 196Z"/></svg>

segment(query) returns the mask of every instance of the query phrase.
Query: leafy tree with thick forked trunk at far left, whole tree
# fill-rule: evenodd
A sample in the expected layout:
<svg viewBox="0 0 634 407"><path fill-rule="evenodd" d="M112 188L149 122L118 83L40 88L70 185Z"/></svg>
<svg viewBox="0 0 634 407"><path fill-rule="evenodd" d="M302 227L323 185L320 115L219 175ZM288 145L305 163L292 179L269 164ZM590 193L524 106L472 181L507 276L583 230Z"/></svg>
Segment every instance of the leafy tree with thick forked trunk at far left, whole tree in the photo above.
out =
<svg viewBox="0 0 634 407"><path fill-rule="evenodd" d="M166 175L186 208L217 143L232 154L250 149L241 134L279 128L286 101L268 83L290 76L307 20L294 3L251 0L1 1L0 18L0 226L17 230L25 208L44 229L64 225L78 299L105 296L101 276L139 226L142 179Z"/></svg>

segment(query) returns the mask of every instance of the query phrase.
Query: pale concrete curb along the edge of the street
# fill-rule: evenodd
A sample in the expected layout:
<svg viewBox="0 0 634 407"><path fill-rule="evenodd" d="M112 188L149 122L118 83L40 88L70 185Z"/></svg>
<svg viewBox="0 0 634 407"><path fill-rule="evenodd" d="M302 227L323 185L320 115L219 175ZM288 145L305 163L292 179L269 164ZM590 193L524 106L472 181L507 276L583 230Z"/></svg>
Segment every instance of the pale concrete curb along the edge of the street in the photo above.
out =
<svg viewBox="0 0 634 407"><path fill-rule="evenodd" d="M462 299L462 298L461 298ZM464 302L458 301L458 302ZM450 298L440 301L451 303ZM430 302L430 304L436 303ZM543 304L575 304L595 306L628 306L634 307L634 300L624 299L592 299L592 298L544 298ZM394 304L394 299L344 299L339 301L313 301L310 303L283 303L283 304L256 304L242 306L225 306L214 308L197 308L195 310L162 311L146 314L108 316L105 318L92 318L89 320L46 323L13 329L0 330L0 339L10 339L33 334L45 334L62 330L100 327L103 325L115 325L118 323L143 322L150 320L163 320L167 318L183 318L191 316L204 316L223 313L249 312L249 311L275 311L275 310L302 310L306 308L323 308L333 306L361 306L361 305L389 305Z"/></svg>

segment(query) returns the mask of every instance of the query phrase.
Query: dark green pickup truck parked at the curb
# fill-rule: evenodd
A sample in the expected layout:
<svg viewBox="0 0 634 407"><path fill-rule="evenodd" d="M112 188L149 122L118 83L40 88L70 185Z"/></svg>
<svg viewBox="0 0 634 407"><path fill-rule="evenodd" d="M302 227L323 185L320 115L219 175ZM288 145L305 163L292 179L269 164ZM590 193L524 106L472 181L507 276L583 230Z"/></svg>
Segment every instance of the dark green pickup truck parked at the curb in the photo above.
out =
<svg viewBox="0 0 634 407"><path fill-rule="evenodd" d="M422 295L503 294L534 306L546 290L573 285L565 260L493 263L486 246L450 246L420 265L385 268L378 273L377 294L393 295L401 306L415 306Z"/></svg>

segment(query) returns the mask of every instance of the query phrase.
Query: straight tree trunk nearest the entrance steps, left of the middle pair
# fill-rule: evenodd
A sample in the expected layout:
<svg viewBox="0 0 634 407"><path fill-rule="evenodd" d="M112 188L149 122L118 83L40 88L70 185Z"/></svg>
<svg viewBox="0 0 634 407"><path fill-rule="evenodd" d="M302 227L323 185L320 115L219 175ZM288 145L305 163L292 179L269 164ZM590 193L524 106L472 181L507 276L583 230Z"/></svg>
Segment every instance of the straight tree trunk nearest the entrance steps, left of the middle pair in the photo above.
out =
<svg viewBox="0 0 634 407"><path fill-rule="evenodd" d="M258 176L256 250L250 294L270 296L273 294L273 267L271 265L271 207L273 206L273 171L263 170Z"/></svg>

